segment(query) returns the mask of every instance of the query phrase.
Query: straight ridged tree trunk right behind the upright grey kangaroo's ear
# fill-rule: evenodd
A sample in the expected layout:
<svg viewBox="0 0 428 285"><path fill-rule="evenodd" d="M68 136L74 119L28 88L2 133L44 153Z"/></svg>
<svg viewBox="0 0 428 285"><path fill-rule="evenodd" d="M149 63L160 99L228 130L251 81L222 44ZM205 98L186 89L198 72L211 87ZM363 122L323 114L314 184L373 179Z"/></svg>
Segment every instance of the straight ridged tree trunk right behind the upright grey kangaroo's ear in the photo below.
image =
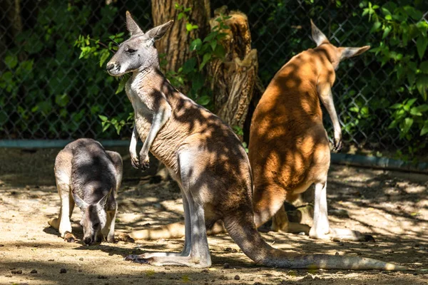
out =
<svg viewBox="0 0 428 285"><path fill-rule="evenodd" d="M175 9L176 3L191 8L188 21L185 18L177 20L180 11ZM165 70L178 71L190 58L191 39L205 38L210 31L210 0L153 0L152 16L154 26L170 20L175 21L170 31L156 43L156 48L168 59ZM198 25L198 28L187 33L185 26L188 22Z"/></svg>

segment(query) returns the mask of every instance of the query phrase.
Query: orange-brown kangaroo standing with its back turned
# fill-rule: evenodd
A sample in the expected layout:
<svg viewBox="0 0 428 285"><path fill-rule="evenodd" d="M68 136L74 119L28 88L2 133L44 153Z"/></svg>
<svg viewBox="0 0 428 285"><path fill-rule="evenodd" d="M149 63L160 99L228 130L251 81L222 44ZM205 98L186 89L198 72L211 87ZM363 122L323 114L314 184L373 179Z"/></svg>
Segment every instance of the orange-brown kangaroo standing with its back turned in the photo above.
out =
<svg viewBox="0 0 428 285"><path fill-rule="evenodd" d="M315 184L314 239L368 240L370 235L330 228L327 218L327 172L330 146L322 125L320 100L334 128L334 148L342 148L342 132L332 98L335 70L340 61L367 51L337 48L312 24L316 48L291 58L270 81L255 108L248 154L254 178L255 224L272 218L272 229L300 232L305 227L290 223L283 203L291 202ZM308 229L308 227L307 227Z"/></svg>

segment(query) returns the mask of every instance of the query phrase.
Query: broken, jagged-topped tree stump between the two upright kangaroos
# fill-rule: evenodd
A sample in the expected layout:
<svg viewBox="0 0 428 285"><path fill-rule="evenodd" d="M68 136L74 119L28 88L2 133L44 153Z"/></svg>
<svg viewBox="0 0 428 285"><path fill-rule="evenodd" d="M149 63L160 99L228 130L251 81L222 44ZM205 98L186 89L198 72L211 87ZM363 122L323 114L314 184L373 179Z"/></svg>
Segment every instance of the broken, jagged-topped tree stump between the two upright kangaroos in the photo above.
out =
<svg viewBox="0 0 428 285"><path fill-rule="evenodd" d="M225 6L214 12L210 21L211 28L218 25L215 21L220 14L230 16L225 19L229 27L222 32L225 47L225 60L216 59L208 65L208 74L212 78L215 113L237 131L243 139L244 123L248 107L255 92L258 81L257 51L251 48L251 33L248 19L239 11L228 13Z"/></svg>

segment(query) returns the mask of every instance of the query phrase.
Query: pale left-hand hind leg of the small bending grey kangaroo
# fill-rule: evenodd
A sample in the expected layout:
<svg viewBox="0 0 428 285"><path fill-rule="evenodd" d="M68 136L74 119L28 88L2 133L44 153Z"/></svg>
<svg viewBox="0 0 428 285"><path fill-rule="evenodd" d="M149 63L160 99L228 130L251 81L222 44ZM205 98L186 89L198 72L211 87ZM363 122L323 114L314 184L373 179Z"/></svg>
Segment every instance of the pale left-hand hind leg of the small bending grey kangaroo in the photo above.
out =
<svg viewBox="0 0 428 285"><path fill-rule="evenodd" d="M70 217L74 209L74 200L71 195L71 160L73 153L71 150L61 150L55 160L55 178L58 188L59 198L61 199L61 208L58 218L49 220L49 224L54 229L58 229L61 237L67 242L74 242L76 237L71 234Z"/></svg>

